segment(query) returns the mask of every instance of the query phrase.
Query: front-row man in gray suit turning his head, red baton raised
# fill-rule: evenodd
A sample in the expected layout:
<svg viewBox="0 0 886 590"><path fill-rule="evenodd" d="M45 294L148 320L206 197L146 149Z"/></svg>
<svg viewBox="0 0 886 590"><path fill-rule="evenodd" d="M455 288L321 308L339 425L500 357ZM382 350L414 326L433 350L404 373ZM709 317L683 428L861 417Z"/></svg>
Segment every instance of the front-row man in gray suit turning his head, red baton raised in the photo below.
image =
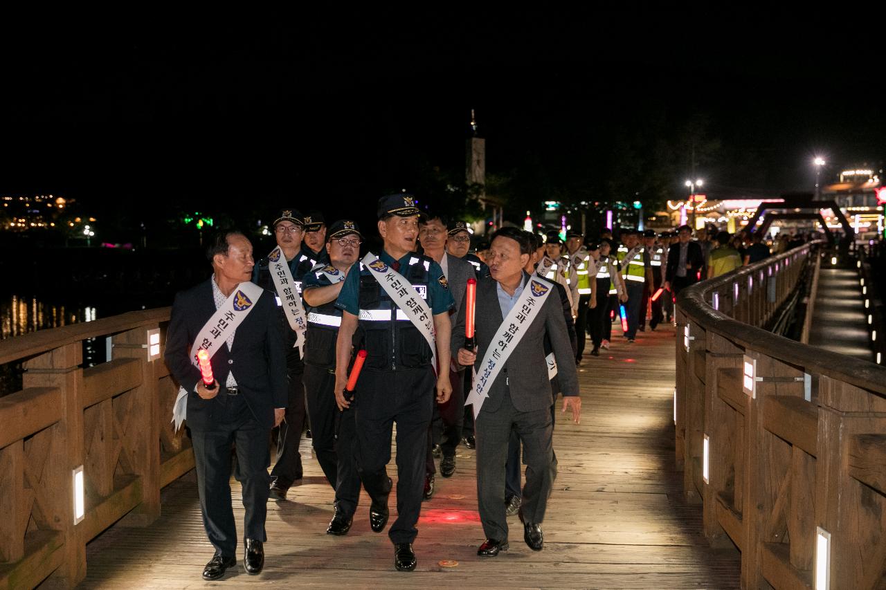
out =
<svg viewBox="0 0 886 590"><path fill-rule="evenodd" d="M482 362L487 349L496 346L495 341L501 338L503 319L517 301L523 299L523 290L531 280L524 271L530 252L532 245L522 230L504 228L495 233L488 259L490 276L482 279L477 287L475 338L478 350L470 352L463 348L463 308L453 330L453 352L460 364L470 366ZM551 389L544 351L546 335L559 369L557 377L563 389L563 411L571 408L575 423L579 423L579 380L559 298L548 297L533 311L532 322L522 326L522 337L511 349L501 372L487 387L488 398L476 421L477 495L480 520L486 533L486 541L478 548L478 555L494 556L508 548L504 465L511 429L516 429L523 441L526 463L526 484L520 508L523 538L534 551L540 551L544 546L541 522L551 490L553 461ZM484 368L477 364L477 369L479 372Z"/></svg>

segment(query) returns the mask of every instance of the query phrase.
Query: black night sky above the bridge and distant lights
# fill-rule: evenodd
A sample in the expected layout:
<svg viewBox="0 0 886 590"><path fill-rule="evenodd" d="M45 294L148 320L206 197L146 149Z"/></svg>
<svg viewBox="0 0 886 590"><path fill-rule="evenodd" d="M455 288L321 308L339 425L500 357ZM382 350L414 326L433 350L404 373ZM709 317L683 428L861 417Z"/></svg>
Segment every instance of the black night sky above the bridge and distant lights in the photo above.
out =
<svg viewBox="0 0 886 590"><path fill-rule="evenodd" d="M811 190L813 154L838 173L886 152L874 37L813 43L792 19L727 30L657 15L373 16L7 39L0 192L112 213L371 207L414 190L417 170L463 169L471 108L490 173L532 162L592 198L644 174L624 161L634 143L692 120L719 141L696 175L722 196ZM685 163L679 196L688 154L669 157Z"/></svg>

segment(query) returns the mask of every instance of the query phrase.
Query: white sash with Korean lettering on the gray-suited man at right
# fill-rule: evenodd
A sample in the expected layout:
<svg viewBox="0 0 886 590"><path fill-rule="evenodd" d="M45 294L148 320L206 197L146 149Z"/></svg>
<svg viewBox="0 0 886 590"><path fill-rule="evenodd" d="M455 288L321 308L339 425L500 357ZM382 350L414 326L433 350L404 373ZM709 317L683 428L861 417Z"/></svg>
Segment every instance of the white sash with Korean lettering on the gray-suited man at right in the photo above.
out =
<svg viewBox="0 0 886 590"><path fill-rule="evenodd" d="M539 310L551 291L554 291L553 284L537 276L530 276L523 291L520 292L520 299L517 299L517 303L510 308L498 330L495 330L496 335L486 349L486 356L480 363L480 369L474 376L473 387L464 402L465 406L468 404L473 406L475 419L480 413L483 402L489 397L487 391L492 387L495 377L498 377L510 353L514 352L526 330L529 330L529 326L539 315Z"/></svg>

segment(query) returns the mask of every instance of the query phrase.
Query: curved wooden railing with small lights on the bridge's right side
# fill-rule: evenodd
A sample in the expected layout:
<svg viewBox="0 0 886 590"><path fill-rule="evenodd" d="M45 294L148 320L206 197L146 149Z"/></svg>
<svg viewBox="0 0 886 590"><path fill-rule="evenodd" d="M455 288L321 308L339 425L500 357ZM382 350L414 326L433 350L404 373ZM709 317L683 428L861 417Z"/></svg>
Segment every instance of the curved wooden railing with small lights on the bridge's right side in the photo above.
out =
<svg viewBox="0 0 886 590"><path fill-rule="evenodd" d="M822 255L805 245L677 302L677 462L708 540L742 552L743 588L886 587L886 368L759 328Z"/></svg>

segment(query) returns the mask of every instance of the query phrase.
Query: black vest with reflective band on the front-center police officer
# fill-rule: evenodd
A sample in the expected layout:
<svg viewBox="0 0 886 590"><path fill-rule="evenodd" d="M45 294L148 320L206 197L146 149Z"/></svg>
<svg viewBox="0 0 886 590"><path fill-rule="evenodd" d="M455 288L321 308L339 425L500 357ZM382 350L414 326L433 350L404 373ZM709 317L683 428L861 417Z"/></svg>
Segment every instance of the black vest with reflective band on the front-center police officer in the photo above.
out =
<svg viewBox="0 0 886 590"><path fill-rule="evenodd" d="M431 263L427 256L415 255L408 260L402 275L427 305ZM429 306L430 309L430 306ZM369 369L415 369L431 364L431 346L408 316L388 297L368 268L360 271L360 329L354 345L366 349L365 366Z"/></svg>

